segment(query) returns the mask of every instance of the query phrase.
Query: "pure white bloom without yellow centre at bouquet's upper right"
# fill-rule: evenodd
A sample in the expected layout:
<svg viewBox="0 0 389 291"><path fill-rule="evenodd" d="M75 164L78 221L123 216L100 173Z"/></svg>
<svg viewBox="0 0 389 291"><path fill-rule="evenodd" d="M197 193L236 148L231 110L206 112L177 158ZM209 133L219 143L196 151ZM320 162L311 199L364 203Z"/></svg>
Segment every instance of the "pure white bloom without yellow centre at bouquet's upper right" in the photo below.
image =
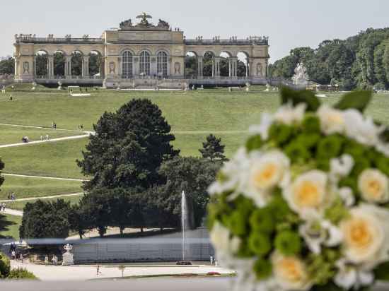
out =
<svg viewBox="0 0 389 291"><path fill-rule="evenodd" d="M373 119L365 119L356 109L347 109L344 111L344 121L346 122L346 135L349 138L354 138L365 145L378 144L382 128L377 126Z"/></svg>

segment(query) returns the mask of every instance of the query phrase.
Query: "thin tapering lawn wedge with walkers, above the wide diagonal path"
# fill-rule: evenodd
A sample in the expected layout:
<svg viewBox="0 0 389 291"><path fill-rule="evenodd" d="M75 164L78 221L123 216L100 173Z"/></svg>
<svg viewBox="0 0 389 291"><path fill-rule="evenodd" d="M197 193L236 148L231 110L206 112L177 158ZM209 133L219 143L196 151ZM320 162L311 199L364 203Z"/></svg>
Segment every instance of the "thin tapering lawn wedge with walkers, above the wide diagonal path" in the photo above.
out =
<svg viewBox="0 0 389 291"><path fill-rule="evenodd" d="M40 141L40 136L50 138L62 138L64 136L77 136L83 134L82 131L58 131L54 129L31 129L28 127L0 125L0 145L10 143L21 143L23 136L28 136L30 141Z"/></svg>

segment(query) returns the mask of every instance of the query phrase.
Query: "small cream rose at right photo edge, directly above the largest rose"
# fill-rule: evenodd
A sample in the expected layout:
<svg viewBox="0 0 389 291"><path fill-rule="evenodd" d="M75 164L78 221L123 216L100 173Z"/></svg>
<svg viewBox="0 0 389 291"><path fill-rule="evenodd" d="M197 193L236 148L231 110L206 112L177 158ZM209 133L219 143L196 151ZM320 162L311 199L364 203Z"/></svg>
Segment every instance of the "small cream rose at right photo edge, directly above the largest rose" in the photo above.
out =
<svg viewBox="0 0 389 291"><path fill-rule="evenodd" d="M388 177L379 170L364 170L358 178L358 189L361 191L362 197L371 203L388 202L388 186Z"/></svg>

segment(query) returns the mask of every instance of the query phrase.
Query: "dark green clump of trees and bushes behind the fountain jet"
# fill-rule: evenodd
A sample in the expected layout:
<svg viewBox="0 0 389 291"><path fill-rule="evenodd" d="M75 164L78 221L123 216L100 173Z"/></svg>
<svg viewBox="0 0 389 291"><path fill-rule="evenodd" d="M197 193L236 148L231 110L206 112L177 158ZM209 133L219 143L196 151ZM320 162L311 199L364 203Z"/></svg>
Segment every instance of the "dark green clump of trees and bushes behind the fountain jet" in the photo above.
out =
<svg viewBox="0 0 389 291"><path fill-rule="evenodd" d="M206 213L207 188L226 157L224 145L208 136L202 158L182 158L171 141L170 125L149 100L132 100L117 112L105 112L94 126L83 160L86 194L70 206L63 200L37 201L24 208L20 236L83 237L108 227L180 228L181 193L187 194L190 227L199 227Z"/></svg>

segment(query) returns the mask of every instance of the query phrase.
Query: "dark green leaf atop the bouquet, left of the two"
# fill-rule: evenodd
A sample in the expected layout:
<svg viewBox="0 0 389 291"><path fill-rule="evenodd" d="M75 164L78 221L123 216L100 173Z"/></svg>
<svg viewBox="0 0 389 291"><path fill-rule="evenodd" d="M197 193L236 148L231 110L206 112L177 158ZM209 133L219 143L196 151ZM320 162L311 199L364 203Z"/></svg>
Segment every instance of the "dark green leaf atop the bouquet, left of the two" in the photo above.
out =
<svg viewBox="0 0 389 291"><path fill-rule="evenodd" d="M294 106L305 103L307 111L315 112L320 107L320 100L315 93L308 90L293 90L291 88L281 88L281 104L291 102Z"/></svg>

